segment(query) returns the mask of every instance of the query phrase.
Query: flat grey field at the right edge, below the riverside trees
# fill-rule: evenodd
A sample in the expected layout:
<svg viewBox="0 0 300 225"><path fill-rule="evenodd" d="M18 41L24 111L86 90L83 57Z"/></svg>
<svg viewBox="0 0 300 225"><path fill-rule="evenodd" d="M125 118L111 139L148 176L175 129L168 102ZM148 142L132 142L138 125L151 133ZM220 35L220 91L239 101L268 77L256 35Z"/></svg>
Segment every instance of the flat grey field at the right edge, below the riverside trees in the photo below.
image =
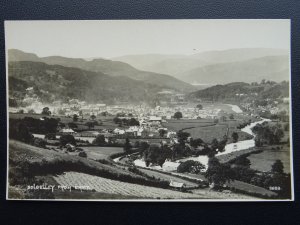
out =
<svg viewBox="0 0 300 225"><path fill-rule="evenodd" d="M248 156L251 161L251 168L258 171L270 171L272 169L272 164L280 159L284 166L284 171L290 173L290 148L286 145L283 149L276 149L276 146L268 146L263 148L264 151L259 154L252 154Z"/></svg>

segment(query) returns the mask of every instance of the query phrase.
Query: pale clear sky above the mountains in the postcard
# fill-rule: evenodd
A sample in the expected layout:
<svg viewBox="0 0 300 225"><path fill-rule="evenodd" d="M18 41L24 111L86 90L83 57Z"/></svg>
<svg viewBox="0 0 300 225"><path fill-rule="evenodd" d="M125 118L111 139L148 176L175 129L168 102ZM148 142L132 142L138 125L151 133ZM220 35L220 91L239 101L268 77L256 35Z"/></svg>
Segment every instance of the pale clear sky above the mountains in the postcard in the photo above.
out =
<svg viewBox="0 0 300 225"><path fill-rule="evenodd" d="M72 58L290 50L290 20L6 21L5 45L39 57Z"/></svg>

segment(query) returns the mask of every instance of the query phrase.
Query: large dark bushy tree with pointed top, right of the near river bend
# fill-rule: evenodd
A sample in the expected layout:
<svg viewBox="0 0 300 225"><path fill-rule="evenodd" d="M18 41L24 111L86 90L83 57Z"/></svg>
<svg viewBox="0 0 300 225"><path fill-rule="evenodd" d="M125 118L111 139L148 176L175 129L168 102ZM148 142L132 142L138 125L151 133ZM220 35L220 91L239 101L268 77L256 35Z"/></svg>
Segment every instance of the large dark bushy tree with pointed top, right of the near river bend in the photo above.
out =
<svg viewBox="0 0 300 225"><path fill-rule="evenodd" d="M230 165L221 164L219 160L212 157L208 160L208 169L205 172L205 177L212 184L213 188L222 187L226 182L234 178L233 171Z"/></svg>

